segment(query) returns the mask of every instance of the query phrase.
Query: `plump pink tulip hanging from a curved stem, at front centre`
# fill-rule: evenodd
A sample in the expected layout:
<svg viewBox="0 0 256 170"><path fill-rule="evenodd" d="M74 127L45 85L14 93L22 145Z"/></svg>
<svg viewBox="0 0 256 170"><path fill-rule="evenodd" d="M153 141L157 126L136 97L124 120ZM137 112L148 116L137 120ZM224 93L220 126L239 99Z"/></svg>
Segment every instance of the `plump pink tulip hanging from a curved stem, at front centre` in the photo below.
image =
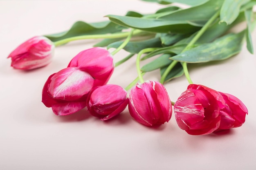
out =
<svg viewBox="0 0 256 170"><path fill-rule="evenodd" d="M164 86L155 81L137 84L130 91L130 115L145 126L164 124L171 119L171 100Z"/></svg>

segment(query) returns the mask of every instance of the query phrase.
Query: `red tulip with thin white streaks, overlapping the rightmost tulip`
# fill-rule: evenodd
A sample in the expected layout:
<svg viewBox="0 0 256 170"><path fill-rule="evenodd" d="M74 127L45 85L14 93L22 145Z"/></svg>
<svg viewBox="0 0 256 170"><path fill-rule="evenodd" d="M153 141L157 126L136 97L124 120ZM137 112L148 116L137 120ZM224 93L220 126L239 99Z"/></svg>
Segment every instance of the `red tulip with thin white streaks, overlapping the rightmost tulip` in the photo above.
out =
<svg viewBox="0 0 256 170"><path fill-rule="evenodd" d="M206 135L220 126L225 100L217 91L190 84L174 104L178 126L190 135Z"/></svg>

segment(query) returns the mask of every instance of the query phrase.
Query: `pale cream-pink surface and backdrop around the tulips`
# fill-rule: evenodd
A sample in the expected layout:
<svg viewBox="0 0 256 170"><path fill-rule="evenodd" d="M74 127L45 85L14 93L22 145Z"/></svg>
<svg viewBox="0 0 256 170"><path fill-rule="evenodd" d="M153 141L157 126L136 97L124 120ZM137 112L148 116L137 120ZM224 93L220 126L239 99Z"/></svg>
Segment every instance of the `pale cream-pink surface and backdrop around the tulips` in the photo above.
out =
<svg viewBox="0 0 256 170"><path fill-rule="evenodd" d="M77 20L97 22L126 11L154 12L163 7L139 0L1 0L0 1L0 169L1 170L253 170L256 168L256 56L246 46L229 60L190 66L194 83L240 98L249 110L245 124L222 135L191 136L174 114L169 123L147 128L127 110L103 122L79 112L58 117L41 102L52 73L97 40L56 48L53 62L35 71L10 67L8 54L35 35L69 29ZM256 32L253 33L256 51ZM118 61L126 55L114 56ZM141 63L141 65L143 62ZM135 77L135 58L115 69L109 83L126 87ZM159 72L145 75L159 80ZM171 100L188 85L185 77L166 84Z"/></svg>

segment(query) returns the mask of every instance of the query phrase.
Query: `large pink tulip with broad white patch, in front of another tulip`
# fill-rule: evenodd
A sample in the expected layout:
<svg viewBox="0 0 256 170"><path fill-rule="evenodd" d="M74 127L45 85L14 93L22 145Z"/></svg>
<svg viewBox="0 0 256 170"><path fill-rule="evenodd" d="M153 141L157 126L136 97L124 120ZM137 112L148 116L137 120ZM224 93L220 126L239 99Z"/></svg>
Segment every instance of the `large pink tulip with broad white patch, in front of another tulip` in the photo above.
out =
<svg viewBox="0 0 256 170"><path fill-rule="evenodd" d="M86 106L94 78L77 67L67 67L52 74L43 87L42 102L56 115L70 115Z"/></svg>

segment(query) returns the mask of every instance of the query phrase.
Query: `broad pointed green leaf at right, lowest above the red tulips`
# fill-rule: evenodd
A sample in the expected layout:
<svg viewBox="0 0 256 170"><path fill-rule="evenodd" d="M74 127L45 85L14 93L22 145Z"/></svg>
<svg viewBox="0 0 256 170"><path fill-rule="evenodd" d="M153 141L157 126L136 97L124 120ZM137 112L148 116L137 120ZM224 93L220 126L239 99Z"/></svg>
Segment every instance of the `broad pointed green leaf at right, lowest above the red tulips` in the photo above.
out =
<svg viewBox="0 0 256 170"><path fill-rule="evenodd" d="M211 43L201 44L171 57L171 60L188 63L225 60L241 51L245 31L229 33Z"/></svg>

